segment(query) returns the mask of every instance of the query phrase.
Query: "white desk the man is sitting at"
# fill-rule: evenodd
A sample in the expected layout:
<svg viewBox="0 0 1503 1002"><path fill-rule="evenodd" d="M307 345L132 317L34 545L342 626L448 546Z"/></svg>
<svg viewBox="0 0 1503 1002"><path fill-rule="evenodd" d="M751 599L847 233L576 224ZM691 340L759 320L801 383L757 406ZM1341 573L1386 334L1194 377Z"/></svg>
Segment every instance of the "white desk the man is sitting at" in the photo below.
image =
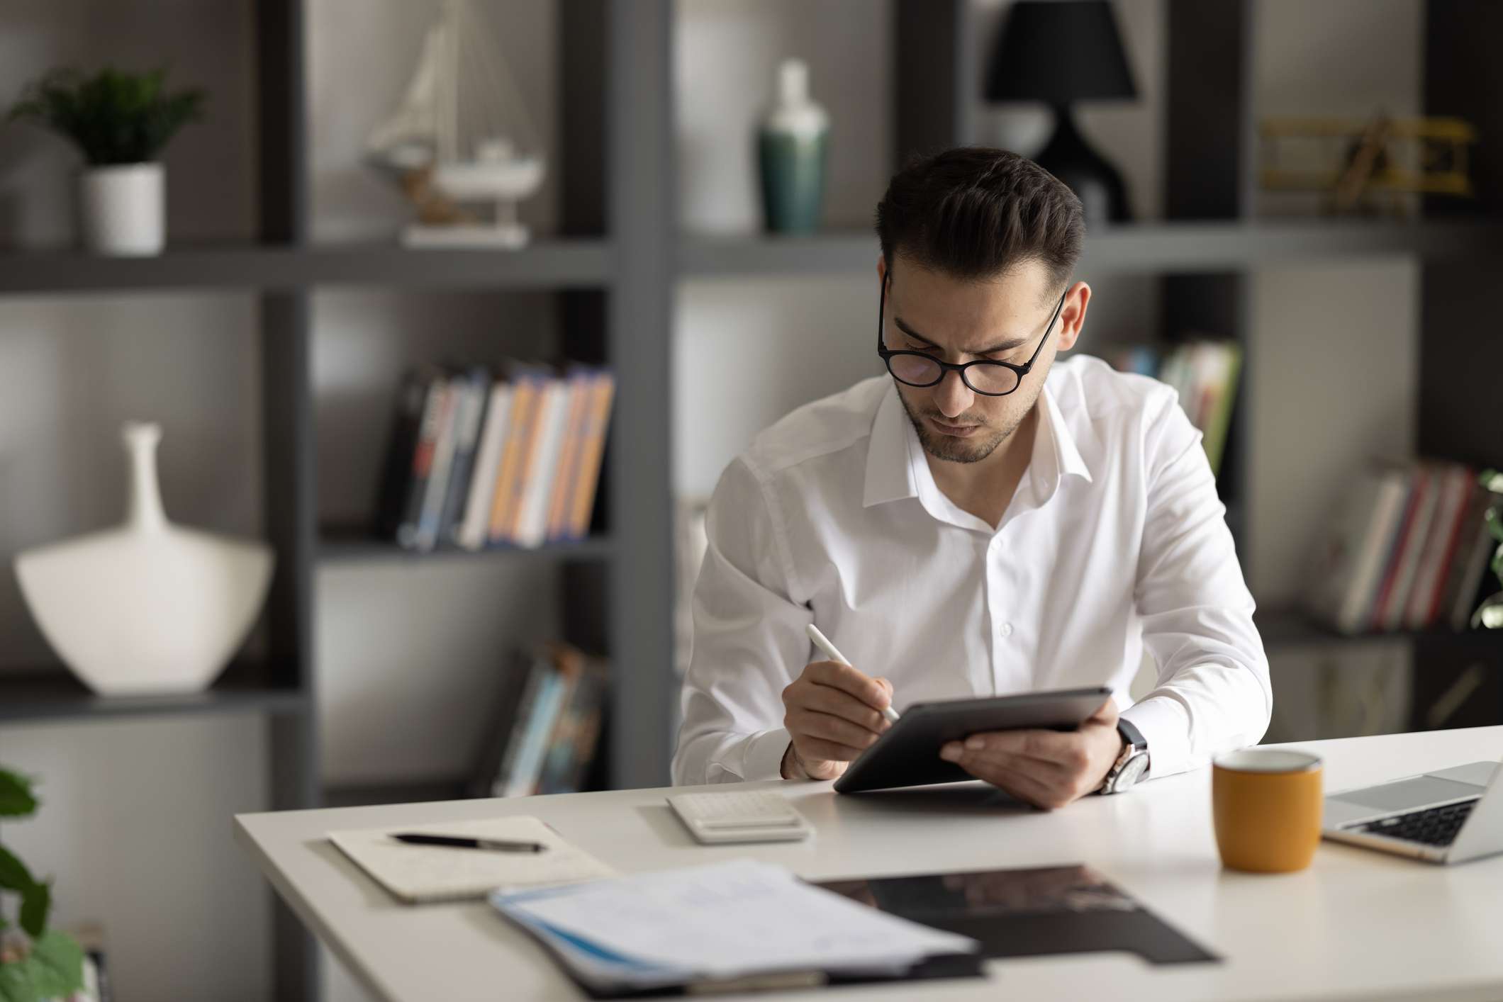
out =
<svg viewBox="0 0 1503 1002"><path fill-rule="evenodd" d="M1326 757L1326 789L1335 790L1498 759L1503 727L1299 747ZM242 814L236 834L302 921L391 1002L583 997L485 904L398 904L323 840L340 828L511 813L543 817L621 871L738 855L810 879L1087 862L1225 957L1169 967L1127 954L989 961L986 979L923 982L932 999L1503 997L1503 856L1434 867L1323 843L1303 873L1226 873L1216 859L1208 771L1057 813L986 805L974 796L978 787L849 798L828 783L759 786L783 789L818 837L699 846L663 790ZM890 984L776 997L912 994L912 984Z"/></svg>

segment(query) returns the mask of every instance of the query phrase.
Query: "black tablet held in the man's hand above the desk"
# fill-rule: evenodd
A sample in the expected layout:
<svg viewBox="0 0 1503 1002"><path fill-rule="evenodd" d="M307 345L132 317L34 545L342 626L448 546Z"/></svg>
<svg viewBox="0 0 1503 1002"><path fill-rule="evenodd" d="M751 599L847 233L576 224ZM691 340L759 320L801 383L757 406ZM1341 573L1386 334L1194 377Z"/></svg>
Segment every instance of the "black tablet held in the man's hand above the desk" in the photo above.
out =
<svg viewBox="0 0 1503 1002"><path fill-rule="evenodd" d="M947 741L963 741L987 730L1048 727L1075 730L1102 708L1112 691L1054 690L977 700L914 703L876 744L861 753L839 780L836 790L884 790L893 786L924 786L972 778L953 762L939 757Z"/></svg>

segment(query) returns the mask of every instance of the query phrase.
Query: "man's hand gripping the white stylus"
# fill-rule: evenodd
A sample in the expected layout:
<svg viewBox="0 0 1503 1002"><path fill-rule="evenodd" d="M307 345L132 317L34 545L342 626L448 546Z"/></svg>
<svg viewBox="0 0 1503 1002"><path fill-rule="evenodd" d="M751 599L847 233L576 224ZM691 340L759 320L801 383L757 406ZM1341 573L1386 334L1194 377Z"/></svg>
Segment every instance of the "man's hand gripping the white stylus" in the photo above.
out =
<svg viewBox="0 0 1503 1002"><path fill-rule="evenodd" d="M785 780L834 780L891 724L882 709L893 684L849 664L815 661L783 690L783 726L792 741L783 753Z"/></svg>

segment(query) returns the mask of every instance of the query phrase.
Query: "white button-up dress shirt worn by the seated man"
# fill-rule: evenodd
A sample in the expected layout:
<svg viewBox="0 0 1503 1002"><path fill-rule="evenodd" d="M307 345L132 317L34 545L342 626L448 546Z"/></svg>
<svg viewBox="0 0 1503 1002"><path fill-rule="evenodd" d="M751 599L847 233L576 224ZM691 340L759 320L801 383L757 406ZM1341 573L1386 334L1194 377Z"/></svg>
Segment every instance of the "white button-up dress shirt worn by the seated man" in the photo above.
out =
<svg viewBox="0 0 1503 1002"><path fill-rule="evenodd" d="M1257 744L1273 691L1201 434L1174 391L1060 361L993 529L935 485L888 376L807 404L721 475L673 781L776 780L819 626L893 706L1106 685L1150 775ZM1130 705L1144 649L1157 687Z"/></svg>

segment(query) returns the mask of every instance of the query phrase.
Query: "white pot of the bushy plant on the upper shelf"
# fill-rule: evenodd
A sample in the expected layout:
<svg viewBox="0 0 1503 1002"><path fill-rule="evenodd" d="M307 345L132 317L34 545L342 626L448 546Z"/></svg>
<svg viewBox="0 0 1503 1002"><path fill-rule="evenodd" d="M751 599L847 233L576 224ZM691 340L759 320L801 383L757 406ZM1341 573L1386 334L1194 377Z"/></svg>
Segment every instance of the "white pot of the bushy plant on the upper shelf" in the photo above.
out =
<svg viewBox="0 0 1503 1002"><path fill-rule="evenodd" d="M161 164L87 168L78 177L84 248L114 257L161 254L167 242L165 192Z"/></svg>

